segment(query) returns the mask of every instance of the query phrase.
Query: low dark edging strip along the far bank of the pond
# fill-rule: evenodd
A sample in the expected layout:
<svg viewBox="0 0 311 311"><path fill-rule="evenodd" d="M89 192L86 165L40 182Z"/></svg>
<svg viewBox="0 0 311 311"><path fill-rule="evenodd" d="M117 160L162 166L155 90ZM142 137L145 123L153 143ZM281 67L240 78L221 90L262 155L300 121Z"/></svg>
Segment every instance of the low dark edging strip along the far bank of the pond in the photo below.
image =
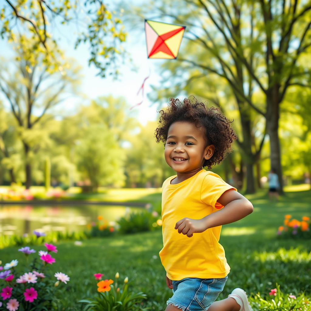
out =
<svg viewBox="0 0 311 311"><path fill-rule="evenodd" d="M0 205L123 205L145 207L142 202L106 202L106 201L82 201L82 200L35 200L35 201L0 201Z"/></svg>

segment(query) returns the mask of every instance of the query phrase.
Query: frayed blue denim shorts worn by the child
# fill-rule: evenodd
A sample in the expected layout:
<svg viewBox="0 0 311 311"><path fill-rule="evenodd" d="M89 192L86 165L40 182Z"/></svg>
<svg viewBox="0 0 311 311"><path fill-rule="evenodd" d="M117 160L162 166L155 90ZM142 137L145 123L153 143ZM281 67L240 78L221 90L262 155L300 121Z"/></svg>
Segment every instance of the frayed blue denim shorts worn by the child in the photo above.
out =
<svg viewBox="0 0 311 311"><path fill-rule="evenodd" d="M224 289L228 276L218 279L186 277L172 281L173 296L166 304L173 304L183 311L203 311L217 299Z"/></svg>

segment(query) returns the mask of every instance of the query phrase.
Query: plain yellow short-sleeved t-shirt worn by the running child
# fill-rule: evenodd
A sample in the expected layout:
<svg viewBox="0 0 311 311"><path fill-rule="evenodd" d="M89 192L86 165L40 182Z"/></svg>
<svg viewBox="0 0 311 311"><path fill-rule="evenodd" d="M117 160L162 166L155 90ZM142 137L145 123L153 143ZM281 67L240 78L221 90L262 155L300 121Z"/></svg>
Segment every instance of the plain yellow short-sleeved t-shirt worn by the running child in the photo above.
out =
<svg viewBox="0 0 311 311"><path fill-rule="evenodd" d="M191 238L174 228L184 217L201 219L221 209L219 197L226 190L237 189L205 169L181 183L171 184L175 177L169 177L162 185L163 248L159 255L166 275L175 281L225 277L230 267L219 244L221 226L194 233Z"/></svg>

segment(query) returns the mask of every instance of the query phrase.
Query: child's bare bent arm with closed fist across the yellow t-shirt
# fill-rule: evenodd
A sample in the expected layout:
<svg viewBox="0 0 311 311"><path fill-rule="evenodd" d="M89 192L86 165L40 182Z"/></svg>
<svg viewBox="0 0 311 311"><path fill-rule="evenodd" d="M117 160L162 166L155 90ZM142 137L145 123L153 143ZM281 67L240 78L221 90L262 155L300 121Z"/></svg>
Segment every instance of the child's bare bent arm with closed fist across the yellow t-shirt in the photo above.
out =
<svg viewBox="0 0 311 311"><path fill-rule="evenodd" d="M203 217L202 219L183 218L177 221L175 229L178 233L187 234L190 238L193 233L200 233L208 228L230 224L240 220L253 212L253 205L246 197L230 189L225 191L217 200L224 207Z"/></svg>

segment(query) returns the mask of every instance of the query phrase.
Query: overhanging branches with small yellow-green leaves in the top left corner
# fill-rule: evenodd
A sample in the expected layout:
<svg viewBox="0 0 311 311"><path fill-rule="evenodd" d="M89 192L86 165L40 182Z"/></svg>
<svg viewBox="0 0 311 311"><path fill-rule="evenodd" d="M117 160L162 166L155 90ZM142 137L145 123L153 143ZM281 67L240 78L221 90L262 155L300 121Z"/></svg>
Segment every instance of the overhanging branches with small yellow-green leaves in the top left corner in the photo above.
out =
<svg viewBox="0 0 311 311"><path fill-rule="evenodd" d="M6 5L0 11L2 39L6 37L9 41L16 42L13 30L22 29L24 35L31 36L32 49L35 53L41 53L49 62L58 63L58 39L55 35L55 29L58 30L58 27L55 25L74 24L78 31L75 48L82 42L90 45L89 65L94 64L101 77L105 77L107 72L109 75L118 75L117 63L118 59L124 56L122 43L127 34L116 12L112 12L103 1L5 0L4 2Z"/></svg>

